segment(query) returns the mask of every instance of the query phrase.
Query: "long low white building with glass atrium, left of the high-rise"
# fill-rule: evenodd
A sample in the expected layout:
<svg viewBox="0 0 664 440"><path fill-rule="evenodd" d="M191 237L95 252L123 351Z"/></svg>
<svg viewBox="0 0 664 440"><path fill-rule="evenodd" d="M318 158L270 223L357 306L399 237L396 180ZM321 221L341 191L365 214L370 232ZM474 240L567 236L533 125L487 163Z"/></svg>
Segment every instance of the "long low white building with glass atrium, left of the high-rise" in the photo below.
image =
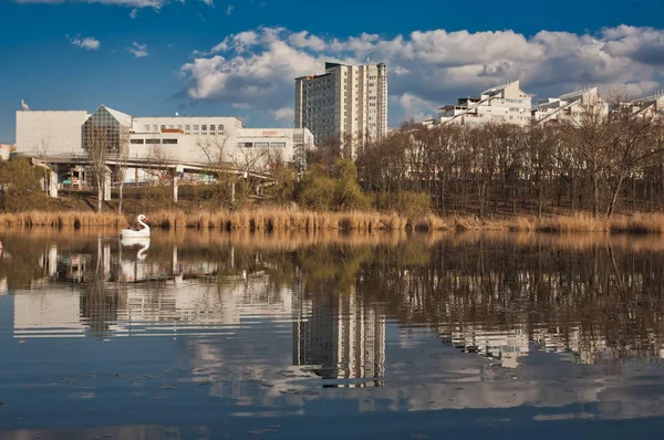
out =
<svg viewBox="0 0 664 440"><path fill-rule="evenodd" d="M250 164L260 170L276 161L304 166L304 151L313 148L307 128L246 128L237 117L224 116L131 116L102 105L93 114L17 112L15 151L43 158L84 156L86 133L101 127L111 153L128 140L129 159Z"/></svg>

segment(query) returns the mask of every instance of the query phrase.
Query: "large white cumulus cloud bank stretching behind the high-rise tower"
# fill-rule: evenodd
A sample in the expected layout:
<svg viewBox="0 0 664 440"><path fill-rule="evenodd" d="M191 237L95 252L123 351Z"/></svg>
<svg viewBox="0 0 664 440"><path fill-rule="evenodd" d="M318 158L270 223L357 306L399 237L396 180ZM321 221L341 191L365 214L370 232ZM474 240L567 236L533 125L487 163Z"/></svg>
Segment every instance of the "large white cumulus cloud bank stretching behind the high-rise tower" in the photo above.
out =
<svg viewBox="0 0 664 440"><path fill-rule="evenodd" d="M663 83L664 30L621 25L594 34L505 30L415 31L391 39L345 39L284 28L231 34L180 67L189 99L219 99L278 112L292 106L294 78L322 73L325 61L384 62L390 72L391 125L435 114L504 81L520 80L539 97L582 86L623 86L634 96ZM537 99L536 99L537 101Z"/></svg>

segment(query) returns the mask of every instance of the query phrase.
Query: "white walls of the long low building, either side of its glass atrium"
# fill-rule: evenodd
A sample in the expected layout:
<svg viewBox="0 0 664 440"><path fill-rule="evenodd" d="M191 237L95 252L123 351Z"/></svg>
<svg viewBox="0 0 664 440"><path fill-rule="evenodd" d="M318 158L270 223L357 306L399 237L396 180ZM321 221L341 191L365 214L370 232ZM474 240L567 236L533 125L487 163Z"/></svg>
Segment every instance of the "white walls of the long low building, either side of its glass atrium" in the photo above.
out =
<svg viewBox="0 0 664 440"><path fill-rule="evenodd" d="M42 145L46 154L83 155L82 127L86 121L86 112L17 112L17 151L38 156ZM203 132L203 126L207 130ZM212 133L209 128L215 126ZM177 133L162 133L165 128L178 129ZM186 127L189 129L186 129ZM197 126L198 129L194 130ZM219 126L224 126L220 130ZM209 164L218 160L222 151L224 161L246 163L261 156L259 165L268 163L268 153L273 157L279 154L281 160L293 161L293 138L295 134L304 134L304 144L313 145L313 136L309 129L293 128L245 128L236 117L194 116L194 117L134 117L129 135L129 157L136 159L154 158L156 154L168 161ZM144 144L132 140L142 139ZM155 144L146 144L155 139ZM168 144L164 139L175 139ZM252 143L252 148L242 148L245 143ZM257 148L256 143L267 143L268 148ZM276 148L274 143L286 144ZM238 144L240 147L238 147Z"/></svg>

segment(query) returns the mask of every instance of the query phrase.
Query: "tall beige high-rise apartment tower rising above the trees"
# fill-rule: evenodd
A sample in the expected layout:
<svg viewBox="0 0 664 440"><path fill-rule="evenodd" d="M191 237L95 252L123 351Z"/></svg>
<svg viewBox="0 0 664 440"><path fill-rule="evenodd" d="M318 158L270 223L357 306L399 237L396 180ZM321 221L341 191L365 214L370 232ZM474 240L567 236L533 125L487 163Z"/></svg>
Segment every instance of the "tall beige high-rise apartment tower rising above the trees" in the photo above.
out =
<svg viewBox="0 0 664 440"><path fill-rule="evenodd" d="M325 73L295 78L295 128L309 128L317 145L335 138L351 156L387 133L387 66L325 63Z"/></svg>

